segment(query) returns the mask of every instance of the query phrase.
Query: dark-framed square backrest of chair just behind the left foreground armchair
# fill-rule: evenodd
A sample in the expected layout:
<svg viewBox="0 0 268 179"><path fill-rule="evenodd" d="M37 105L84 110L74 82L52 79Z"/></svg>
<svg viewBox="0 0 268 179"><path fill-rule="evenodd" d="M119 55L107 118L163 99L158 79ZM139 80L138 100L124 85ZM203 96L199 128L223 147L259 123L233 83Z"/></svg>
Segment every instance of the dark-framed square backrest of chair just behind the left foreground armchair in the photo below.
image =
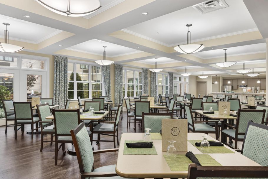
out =
<svg viewBox="0 0 268 179"><path fill-rule="evenodd" d="M54 109L55 138L71 136L70 131L80 123L79 109Z"/></svg>

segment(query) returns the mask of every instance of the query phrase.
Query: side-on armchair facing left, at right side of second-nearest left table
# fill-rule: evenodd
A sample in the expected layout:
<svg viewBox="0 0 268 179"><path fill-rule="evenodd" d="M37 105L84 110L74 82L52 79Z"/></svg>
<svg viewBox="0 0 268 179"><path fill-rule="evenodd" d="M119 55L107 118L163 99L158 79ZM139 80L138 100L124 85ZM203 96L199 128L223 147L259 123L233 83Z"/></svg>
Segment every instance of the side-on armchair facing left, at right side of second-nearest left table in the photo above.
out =
<svg viewBox="0 0 268 179"><path fill-rule="evenodd" d="M115 117L104 117L108 119L113 119L113 121L102 121L102 123L98 124L95 126L92 130L93 134L97 134L98 138L96 143L98 144L99 142L113 142L114 143L114 148L115 148L115 137L117 138L117 145L119 145L119 140L118 140L118 123L119 123L119 118L120 118L120 112L122 110L122 104L118 105ZM113 140L108 141L108 140L100 140L100 135L105 135L105 136L113 136Z"/></svg>

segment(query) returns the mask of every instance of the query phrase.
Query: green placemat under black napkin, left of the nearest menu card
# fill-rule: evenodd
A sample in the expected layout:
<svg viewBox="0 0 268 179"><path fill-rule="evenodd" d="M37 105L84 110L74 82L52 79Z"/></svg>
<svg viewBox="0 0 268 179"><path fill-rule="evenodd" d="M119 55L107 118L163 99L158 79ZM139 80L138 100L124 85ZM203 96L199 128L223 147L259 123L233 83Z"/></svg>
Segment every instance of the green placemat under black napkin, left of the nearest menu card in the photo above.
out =
<svg viewBox="0 0 268 179"><path fill-rule="evenodd" d="M123 155L157 155L155 146L153 148L128 148L126 143L148 142L148 141L125 141Z"/></svg>

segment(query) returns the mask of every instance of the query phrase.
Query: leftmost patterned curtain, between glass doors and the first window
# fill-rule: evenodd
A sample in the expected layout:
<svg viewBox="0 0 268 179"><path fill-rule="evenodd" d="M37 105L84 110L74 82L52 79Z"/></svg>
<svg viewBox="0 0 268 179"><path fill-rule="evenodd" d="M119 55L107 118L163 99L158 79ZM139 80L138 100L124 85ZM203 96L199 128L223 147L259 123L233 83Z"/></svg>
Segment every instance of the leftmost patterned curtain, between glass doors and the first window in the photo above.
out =
<svg viewBox="0 0 268 179"><path fill-rule="evenodd" d="M64 109L68 99L68 57L54 56L54 104Z"/></svg>

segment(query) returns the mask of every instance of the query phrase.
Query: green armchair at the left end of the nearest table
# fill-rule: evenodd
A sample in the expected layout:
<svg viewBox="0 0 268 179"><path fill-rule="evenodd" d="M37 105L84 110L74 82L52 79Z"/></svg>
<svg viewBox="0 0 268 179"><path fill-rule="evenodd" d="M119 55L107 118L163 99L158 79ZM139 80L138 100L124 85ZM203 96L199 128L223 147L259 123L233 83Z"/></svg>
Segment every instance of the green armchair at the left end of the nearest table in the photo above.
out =
<svg viewBox="0 0 268 179"><path fill-rule="evenodd" d="M115 165L94 168L94 153L117 152L118 148L92 151L92 145L84 123L72 129L71 135L82 179L100 177L105 177L106 179L123 179L115 173Z"/></svg>

